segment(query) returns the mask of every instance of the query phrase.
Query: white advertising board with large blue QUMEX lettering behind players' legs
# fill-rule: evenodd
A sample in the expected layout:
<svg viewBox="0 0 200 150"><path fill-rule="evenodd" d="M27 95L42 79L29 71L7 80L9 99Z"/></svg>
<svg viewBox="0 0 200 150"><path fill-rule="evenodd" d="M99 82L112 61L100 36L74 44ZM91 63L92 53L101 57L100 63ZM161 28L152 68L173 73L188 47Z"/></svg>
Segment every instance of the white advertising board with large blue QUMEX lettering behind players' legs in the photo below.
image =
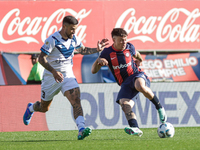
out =
<svg viewBox="0 0 200 150"><path fill-rule="evenodd" d="M80 84L81 103L86 126L92 129L119 129L128 126L121 107L115 102L120 87L116 83ZM175 127L200 126L200 83L152 83L168 115L168 122ZM155 106L142 93L135 100L140 128L158 127L159 116ZM49 130L77 129L73 110L68 100L59 93L46 113Z"/></svg>

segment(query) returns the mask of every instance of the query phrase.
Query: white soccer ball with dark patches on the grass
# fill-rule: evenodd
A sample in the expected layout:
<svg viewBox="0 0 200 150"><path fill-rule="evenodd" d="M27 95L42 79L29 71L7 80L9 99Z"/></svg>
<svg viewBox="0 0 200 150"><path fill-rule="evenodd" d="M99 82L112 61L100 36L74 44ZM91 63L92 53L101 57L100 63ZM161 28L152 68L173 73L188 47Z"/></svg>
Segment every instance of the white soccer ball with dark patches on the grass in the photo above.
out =
<svg viewBox="0 0 200 150"><path fill-rule="evenodd" d="M171 123L166 122L160 124L157 129L157 133L160 138L172 138L174 136L175 129Z"/></svg>

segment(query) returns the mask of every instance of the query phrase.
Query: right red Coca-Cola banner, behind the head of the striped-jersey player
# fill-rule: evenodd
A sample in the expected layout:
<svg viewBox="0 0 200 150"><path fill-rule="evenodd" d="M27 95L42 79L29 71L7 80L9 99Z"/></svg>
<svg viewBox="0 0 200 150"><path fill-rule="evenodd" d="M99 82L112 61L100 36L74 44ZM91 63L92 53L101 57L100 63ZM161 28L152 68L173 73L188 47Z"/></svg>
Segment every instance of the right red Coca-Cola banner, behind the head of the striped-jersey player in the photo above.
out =
<svg viewBox="0 0 200 150"><path fill-rule="evenodd" d="M105 12L112 13L112 17L105 15L105 26L113 23L124 28L129 33L128 41L137 50L196 50L200 49L199 4L199 1L108 2ZM109 36L108 30L105 33Z"/></svg>

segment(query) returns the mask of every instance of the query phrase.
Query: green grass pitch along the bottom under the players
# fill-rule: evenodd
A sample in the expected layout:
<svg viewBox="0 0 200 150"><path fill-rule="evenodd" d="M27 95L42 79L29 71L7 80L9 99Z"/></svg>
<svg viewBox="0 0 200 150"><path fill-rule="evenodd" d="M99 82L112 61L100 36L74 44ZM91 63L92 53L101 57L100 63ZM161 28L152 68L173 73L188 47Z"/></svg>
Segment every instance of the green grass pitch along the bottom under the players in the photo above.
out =
<svg viewBox="0 0 200 150"><path fill-rule="evenodd" d="M82 141L77 131L0 132L0 150L199 150L200 127L176 127L173 138L159 138L156 128L142 137L123 129L93 130Z"/></svg>

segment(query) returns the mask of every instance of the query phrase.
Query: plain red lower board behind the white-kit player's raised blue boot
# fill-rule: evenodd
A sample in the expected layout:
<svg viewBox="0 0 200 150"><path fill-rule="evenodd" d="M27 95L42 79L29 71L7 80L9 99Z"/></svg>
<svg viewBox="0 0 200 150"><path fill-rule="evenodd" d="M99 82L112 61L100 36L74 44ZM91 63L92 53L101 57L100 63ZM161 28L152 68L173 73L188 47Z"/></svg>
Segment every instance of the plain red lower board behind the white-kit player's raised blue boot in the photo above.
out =
<svg viewBox="0 0 200 150"><path fill-rule="evenodd" d="M40 100L40 90L40 85L0 86L0 132L49 130L44 113L35 112L28 126L23 123L27 104Z"/></svg>

